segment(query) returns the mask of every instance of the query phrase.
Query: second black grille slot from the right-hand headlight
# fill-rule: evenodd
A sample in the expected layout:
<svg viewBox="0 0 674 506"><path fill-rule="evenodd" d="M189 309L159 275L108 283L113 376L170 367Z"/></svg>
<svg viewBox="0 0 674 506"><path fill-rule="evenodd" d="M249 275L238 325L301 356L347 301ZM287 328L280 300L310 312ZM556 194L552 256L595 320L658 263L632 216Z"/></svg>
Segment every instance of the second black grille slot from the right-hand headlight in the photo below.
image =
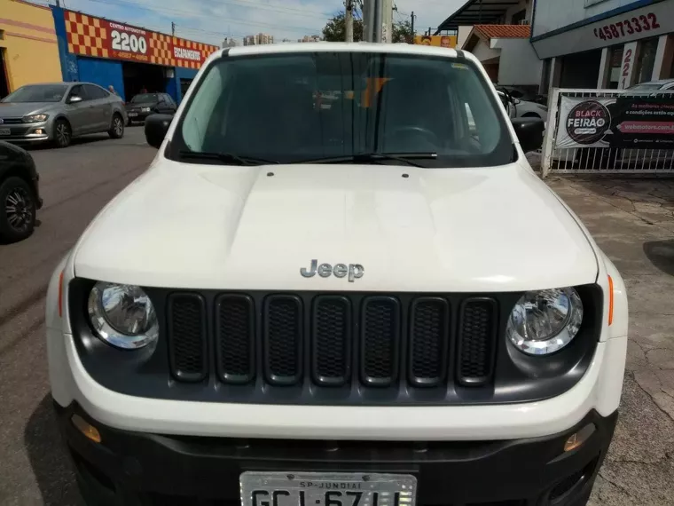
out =
<svg viewBox="0 0 674 506"><path fill-rule="evenodd" d="M411 304L410 383L436 386L447 369L450 306L439 297L423 297Z"/></svg>

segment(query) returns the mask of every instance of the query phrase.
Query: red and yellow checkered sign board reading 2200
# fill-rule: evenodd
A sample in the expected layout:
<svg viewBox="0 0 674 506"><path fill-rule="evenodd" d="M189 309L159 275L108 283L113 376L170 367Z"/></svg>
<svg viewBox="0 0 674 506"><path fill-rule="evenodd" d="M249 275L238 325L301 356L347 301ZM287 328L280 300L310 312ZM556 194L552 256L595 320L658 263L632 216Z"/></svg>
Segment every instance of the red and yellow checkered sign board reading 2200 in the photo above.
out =
<svg viewBox="0 0 674 506"><path fill-rule="evenodd" d="M218 50L215 45L102 20L81 12L66 11L65 21L68 51L82 56L199 68L211 53Z"/></svg>

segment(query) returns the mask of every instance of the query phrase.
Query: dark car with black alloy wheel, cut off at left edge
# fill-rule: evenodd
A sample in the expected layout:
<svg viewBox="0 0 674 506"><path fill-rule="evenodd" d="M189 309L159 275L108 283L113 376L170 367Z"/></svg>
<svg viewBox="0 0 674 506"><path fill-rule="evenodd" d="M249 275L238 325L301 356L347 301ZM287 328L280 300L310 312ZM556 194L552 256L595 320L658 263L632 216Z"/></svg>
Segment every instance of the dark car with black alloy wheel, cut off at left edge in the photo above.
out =
<svg viewBox="0 0 674 506"><path fill-rule="evenodd" d="M0 141L0 241L26 239L42 207L33 157L23 148Z"/></svg>

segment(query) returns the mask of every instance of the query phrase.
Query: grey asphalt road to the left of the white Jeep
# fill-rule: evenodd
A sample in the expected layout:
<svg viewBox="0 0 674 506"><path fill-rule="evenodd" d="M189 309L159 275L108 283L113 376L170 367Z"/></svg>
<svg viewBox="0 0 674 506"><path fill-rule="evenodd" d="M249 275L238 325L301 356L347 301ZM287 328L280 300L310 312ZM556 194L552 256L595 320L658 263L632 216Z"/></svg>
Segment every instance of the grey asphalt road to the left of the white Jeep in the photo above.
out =
<svg viewBox="0 0 674 506"><path fill-rule="evenodd" d="M77 494L51 413L44 294L59 260L156 150L133 127L119 140L87 136L30 152L44 199L40 225L26 241L0 244L0 504L69 506Z"/></svg>

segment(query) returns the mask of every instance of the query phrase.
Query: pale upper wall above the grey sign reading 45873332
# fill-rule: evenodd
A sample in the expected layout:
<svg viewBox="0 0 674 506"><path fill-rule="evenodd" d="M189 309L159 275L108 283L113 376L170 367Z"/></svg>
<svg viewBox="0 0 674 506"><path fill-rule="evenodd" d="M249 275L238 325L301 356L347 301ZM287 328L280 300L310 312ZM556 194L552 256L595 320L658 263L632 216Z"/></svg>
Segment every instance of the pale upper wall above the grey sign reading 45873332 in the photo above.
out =
<svg viewBox="0 0 674 506"><path fill-rule="evenodd" d="M639 0L603 0L592 4L595 0L537 0L536 20L534 20L534 36L540 36L568 27L577 21L592 18L603 12L613 11L618 7L637 4ZM591 4L585 7L585 4Z"/></svg>

